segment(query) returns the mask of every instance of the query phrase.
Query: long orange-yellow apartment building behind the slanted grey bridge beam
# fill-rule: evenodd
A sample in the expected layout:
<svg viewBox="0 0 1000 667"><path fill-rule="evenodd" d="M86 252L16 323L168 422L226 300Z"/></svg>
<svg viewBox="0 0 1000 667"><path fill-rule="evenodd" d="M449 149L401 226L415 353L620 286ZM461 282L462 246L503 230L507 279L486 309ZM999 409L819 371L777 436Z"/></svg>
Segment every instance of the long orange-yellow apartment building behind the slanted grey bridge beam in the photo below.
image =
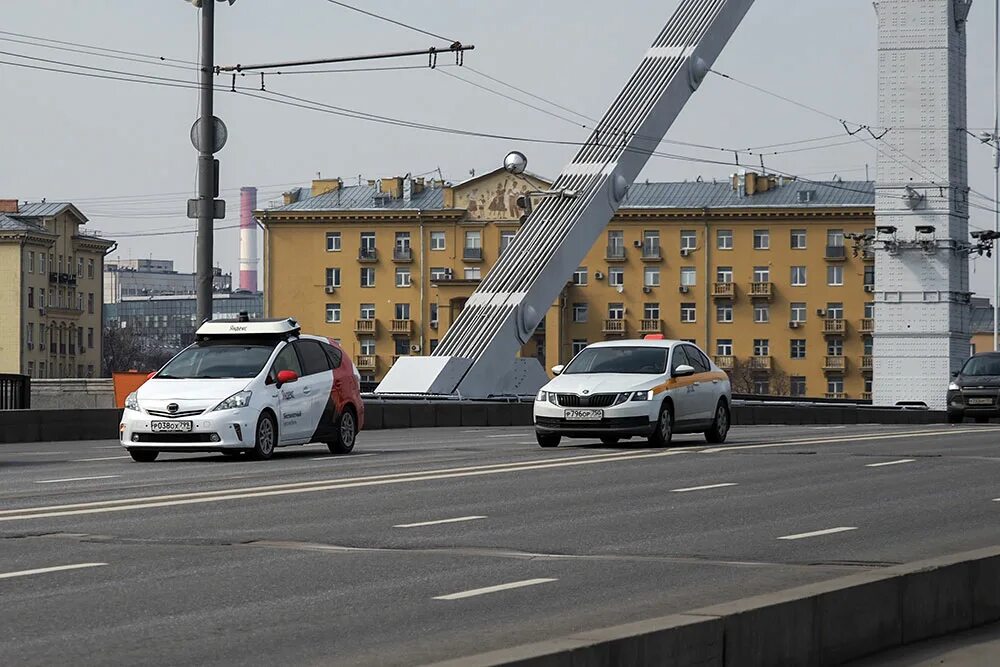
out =
<svg viewBox="0 0 1000 667"><path fill-rule="evenodd" d="M503 170L459 184L317 180L257 212L265 312L339 339L369 380L427 354L520 226ZM636 183L521 351L546 367L588 343L693 341L740 393L869 398L875 227L870 182Z"/></svg>

